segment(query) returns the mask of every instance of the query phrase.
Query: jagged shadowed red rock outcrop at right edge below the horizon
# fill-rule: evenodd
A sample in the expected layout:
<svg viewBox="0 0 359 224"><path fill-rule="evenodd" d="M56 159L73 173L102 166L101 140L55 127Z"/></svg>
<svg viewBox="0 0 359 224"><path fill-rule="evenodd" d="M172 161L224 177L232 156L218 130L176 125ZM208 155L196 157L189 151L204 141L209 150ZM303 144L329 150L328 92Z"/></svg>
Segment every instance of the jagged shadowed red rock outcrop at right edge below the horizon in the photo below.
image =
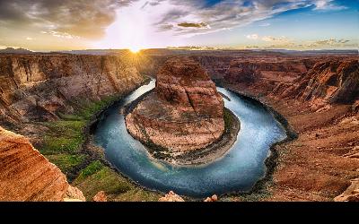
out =
<svg viewBox="0 0 359 224"><path fill-rule="evenodd" d="M310 101L314 109L328 109L329 104L354 104L359 99L359 63L334 60L314 65L293 85L279 84L273 95ZM295 84L298 83L298 84Z"/></svg>

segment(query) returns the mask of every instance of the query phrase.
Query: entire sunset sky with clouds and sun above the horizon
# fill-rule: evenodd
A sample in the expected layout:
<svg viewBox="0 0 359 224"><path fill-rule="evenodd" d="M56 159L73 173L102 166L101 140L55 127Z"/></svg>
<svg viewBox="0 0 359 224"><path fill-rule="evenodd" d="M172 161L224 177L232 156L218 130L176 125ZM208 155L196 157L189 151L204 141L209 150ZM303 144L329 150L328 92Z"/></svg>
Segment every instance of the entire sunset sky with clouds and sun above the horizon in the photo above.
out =
<svg viewBox="0 0 359 224"><path fill-rule="evenodd" d="M358 45L359 0L0 0L0 48Z"/></svg>

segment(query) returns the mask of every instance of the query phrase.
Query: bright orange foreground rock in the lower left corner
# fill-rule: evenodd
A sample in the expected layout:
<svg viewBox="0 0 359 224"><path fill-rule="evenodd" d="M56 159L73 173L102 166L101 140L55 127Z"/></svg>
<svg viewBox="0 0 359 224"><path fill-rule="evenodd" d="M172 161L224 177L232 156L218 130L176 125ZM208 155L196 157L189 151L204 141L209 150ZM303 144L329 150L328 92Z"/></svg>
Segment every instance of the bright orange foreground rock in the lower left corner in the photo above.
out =
<svg viewBox="0 0 359 224"><path fill-rule="evenodd" d="M85 198L28 139L0 127L0 201L83 202Z"/></svg>

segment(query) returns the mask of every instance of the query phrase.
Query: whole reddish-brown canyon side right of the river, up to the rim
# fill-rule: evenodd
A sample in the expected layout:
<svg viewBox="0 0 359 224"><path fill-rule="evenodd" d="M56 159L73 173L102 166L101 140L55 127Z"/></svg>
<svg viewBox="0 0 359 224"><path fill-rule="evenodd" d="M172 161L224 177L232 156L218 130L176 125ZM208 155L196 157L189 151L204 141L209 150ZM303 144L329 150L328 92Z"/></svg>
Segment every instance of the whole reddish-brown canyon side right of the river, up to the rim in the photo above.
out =
<svg viewBox="0 0 359 224"><path fill-rule="evenodd" d="M303 62L305 66L295 58L282 65L270 59L236 60L224 82L275 108L298 134L292 142L275 147L280 165L273 174L276 184L268 185L272 196L266 201L357 201L358 59L310 59L309 64Z"/></svg>

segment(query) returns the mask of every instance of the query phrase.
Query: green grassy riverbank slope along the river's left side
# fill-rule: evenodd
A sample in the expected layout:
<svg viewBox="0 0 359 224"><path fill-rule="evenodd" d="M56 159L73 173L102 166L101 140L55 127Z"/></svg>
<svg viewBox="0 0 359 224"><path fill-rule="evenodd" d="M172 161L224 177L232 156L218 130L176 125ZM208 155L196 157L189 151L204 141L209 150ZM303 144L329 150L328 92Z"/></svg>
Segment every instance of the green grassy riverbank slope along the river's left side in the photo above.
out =
<svg viewBox="0 0 359 224"><path fill-rule="evenodd" d="M104 191L109 201L158 201L162 194L145 190L118 174L109 167L102 149L94 152L96 146L89 141L90 125L118 99L121 97L79 100L74 103L73 114L59 114L57 121L37 123L47 127L47 132L36 147L66 174L72 185L83 191L87 201L92 201L99 191Z"/></svg>

